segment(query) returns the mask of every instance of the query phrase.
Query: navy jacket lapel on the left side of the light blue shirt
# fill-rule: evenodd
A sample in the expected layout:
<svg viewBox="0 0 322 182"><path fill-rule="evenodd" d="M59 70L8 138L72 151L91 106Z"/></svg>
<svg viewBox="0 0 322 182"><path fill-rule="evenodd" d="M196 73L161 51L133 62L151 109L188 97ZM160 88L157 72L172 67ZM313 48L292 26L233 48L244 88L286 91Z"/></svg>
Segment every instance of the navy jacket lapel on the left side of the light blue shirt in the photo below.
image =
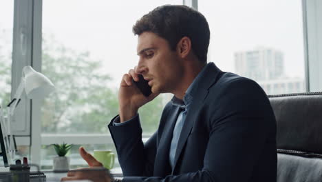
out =
<svg viewBox="0 0 322 182"><path fill-rule="evenodd" d="M154 176L167 176L171 173L169 162L170 143L173 135L175 121L178 118L179 107L174 107L167 117L167 123L164 125L162 136L158 145L157 154L155 156Z"/></svg>

